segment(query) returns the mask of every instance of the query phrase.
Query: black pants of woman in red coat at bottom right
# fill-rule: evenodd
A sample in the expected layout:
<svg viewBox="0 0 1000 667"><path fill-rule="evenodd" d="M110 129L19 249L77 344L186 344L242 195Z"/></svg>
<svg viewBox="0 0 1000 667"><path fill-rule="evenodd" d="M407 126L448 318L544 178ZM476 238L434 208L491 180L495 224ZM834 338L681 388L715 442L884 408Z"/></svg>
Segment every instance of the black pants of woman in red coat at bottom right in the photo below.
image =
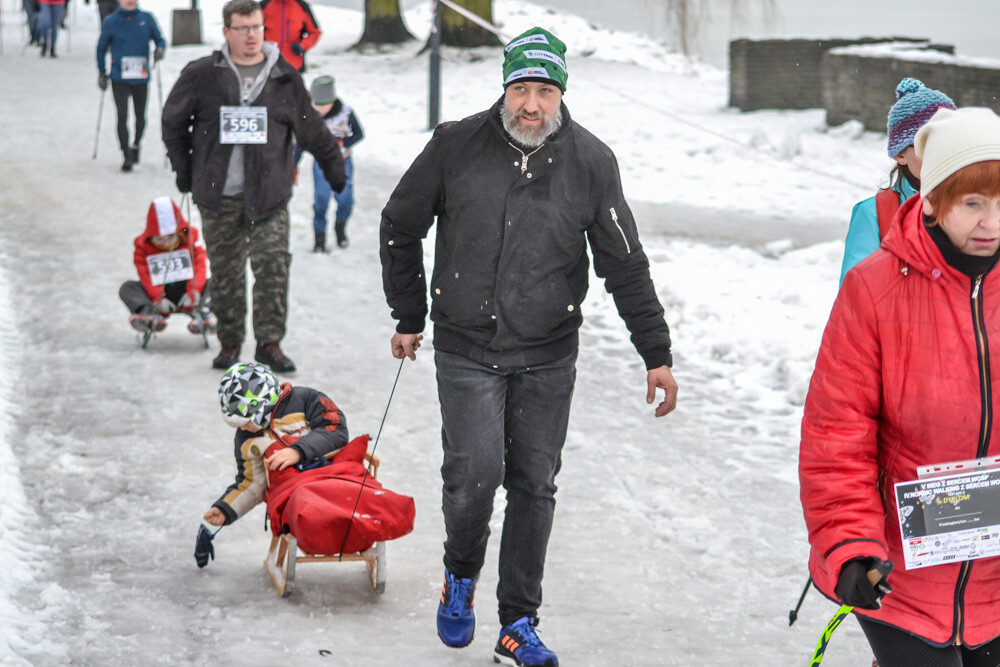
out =
<svg viewBox="0 0 1000 667"><path fill-rule="evenodd" d="M920 637L868 619L858 624L868 638L879 667L998 667L1000 637L977 649L932 646Z"/></svg>

